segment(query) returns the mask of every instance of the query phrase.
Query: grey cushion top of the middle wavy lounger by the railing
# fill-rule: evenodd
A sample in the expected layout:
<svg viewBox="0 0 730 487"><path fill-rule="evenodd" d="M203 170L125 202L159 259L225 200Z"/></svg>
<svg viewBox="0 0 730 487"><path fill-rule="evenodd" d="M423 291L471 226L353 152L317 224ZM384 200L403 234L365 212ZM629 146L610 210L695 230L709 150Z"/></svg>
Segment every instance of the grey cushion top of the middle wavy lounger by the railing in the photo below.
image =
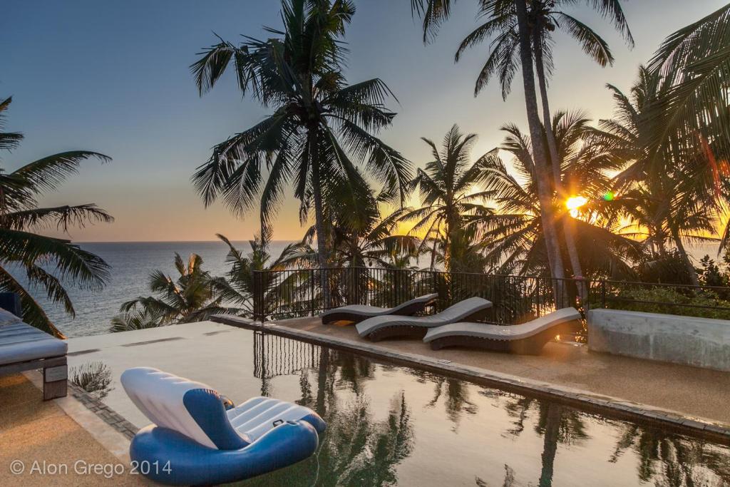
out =
<svg viewBox="0 0 730 487"><path fill-rule="evenodd" d="M433 328L436 326L443 326L447 323L453 323L453 321L459 321L466 318L469 315L475 314L480 310L485 310L492 306L492 303L487 299L480 297L473 297L464 299L464 301L453 304L447 307L442 312L437 312L435 315L429 316L398 316L398 315L385 315L375 316L368 318L361 323L358 323L356 329L361 337L366 337L373 331L376 331L386 326L423 326L424 328Z"/></svg>

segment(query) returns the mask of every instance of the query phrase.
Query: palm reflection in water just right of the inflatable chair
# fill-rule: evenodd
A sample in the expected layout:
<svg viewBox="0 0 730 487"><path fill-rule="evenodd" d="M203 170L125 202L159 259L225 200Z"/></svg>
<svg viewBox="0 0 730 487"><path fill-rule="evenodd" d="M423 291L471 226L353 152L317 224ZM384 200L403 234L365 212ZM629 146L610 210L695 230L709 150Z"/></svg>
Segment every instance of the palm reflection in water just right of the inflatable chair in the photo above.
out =
<svg viewBox="0 0 730 487"><path fill-rule="evenodd" d="M393 395L387 418L374 421L363 381L375 366L366 358L319 348L318 369L299 371L301 398L327 422L315 457L248 480L245 486L380 486L397 483L396 466L413 448L405 394ZM269 379L262 376L262 388ZM316 387L316 391L314 387ZM349 398L349 401L347 400Z"/></svg>

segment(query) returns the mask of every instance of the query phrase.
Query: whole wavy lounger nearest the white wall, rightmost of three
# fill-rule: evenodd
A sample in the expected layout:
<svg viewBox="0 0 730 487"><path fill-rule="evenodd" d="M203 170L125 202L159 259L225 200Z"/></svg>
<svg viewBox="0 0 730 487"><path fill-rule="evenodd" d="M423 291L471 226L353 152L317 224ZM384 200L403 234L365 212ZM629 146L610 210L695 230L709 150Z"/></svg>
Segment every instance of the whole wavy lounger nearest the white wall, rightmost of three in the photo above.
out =
<svg viewBox="0 0 730 487"><path fill-rule="evenodd" d="M527 355L539 355L556 335L579 331L580 312L572 307L550 312L529 323L500 326L485 323L450 323L430 329L423 341L431 348L479 347Z"/></svg>

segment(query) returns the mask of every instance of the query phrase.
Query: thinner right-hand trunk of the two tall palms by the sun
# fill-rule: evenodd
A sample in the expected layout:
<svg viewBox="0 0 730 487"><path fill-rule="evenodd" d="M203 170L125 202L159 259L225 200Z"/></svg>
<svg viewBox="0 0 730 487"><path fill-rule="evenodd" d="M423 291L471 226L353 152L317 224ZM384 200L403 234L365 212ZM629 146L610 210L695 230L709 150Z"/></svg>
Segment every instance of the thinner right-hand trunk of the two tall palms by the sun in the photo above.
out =
<svg viewBox="0 0 730 487"><path fill-rule="evenodd" d="M558 201L563 201L567 194L563 188L563 175L561 172L561 161L558 156L558 143L553 133L553 117L550 115L550 101L548 100L548 83L545 81L545 65L542 62L542 45L539 36L535 34L532 37L533 50L535 54L535 68L537 70L537 83L540 88L540 99L542 100L542 120L545 120L545 135L548 139L548 150L550 150L550 162L553 166L553 180L555 191L558 195ZM563 234L565 238L565 248L568 251L570 266L573 269L573 277L578 280L577 291L580 301L585 301L587 292L585 283L583 283L583 268L580 266L580 258L578 249L575 245L575 229L573 221L569 215L563 219Z"/></svg>

